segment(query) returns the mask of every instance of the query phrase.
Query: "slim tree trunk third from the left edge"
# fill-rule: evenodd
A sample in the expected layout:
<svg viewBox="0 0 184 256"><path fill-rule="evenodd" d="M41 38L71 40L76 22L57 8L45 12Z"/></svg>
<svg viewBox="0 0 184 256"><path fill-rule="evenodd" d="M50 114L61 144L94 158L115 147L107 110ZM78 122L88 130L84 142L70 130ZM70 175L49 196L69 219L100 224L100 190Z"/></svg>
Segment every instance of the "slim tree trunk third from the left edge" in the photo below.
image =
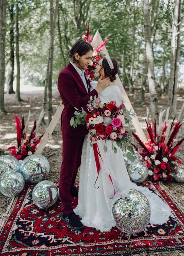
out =
<svg viewBox="0 0 184 256"><path fill-rule="evenodd" d="M16 63L17 63L17 86L16 86L16 101L22 101L20 99L20 60L19 60L19 31L18 31L18 0L16 0Z"/></svg>

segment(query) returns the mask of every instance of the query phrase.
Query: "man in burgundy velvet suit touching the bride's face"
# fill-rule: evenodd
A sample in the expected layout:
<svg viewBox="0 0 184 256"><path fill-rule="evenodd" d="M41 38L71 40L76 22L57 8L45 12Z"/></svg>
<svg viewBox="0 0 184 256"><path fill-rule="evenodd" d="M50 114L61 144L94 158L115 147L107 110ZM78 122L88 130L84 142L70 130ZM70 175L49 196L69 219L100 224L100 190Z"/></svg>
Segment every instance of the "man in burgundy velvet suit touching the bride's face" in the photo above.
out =
<svg viewBox="0 0 184 256"><path fill-rule="evenodd" d="M71 62L61 70L58 76L58 90L64 104L61 115L61 132L63 137L63 161L61 165L59 194L61 198L62 220L70 228L81 230L82 222L77 218L72 208L72 198L78 197L78 189L74 186L77 170L81 164L83 140L88 134L86 126L76 128L70 126L75 108L85 107L90 97L98 94L110 84L107 77L99 79L96 88L90 91L90 83L86 80L84 71L91 62L92 45L84 40L77 41L70 50Z"/></svg>

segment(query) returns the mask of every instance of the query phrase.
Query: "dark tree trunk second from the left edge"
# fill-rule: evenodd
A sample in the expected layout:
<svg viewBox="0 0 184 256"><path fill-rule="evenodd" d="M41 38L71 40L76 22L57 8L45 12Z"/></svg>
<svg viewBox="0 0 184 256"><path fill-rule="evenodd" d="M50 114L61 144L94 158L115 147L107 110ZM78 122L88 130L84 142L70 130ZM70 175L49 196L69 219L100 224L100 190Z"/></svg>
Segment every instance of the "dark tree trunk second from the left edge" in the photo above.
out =
<svg viewBox="0 0 184 256"><path fill-rule="evenodd" d="M9 7L9 17L10 17L10 58L9 58L9 70L8 70L8 76L7 76L7 93L15 93L13 91L13 74L14 74L14 15L13 15L13 8L14 4L11 4L11 7Z"/></svg>

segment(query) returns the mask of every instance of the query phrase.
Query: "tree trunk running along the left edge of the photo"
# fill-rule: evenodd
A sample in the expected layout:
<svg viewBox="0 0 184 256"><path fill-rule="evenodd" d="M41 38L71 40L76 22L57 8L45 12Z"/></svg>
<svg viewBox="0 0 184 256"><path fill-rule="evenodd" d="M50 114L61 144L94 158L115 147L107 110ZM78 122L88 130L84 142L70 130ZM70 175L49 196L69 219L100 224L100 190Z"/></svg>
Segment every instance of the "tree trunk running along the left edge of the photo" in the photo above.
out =
<svg viewBox="0 0 184 256"><path fill-rule="evenodd" d="M7 0L0 0L0 112L3 113L7 112L4 108L6 9Z"/></svg>

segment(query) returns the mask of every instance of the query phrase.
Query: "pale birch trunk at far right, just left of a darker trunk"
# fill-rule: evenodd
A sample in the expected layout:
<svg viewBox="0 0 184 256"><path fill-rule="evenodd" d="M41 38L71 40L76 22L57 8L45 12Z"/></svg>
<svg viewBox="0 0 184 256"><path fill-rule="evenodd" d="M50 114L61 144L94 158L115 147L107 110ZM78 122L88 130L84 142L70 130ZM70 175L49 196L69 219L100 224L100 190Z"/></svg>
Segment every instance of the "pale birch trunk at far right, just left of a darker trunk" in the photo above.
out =
<svg viewBox="0 0 184 256"><path fill-rule="evenodd" d="M173 34L171 40L171 58L170 58L170 74L169 74L169 86L168 86L168 106L170 106L169 117L173 118L176 113L177 104L177 75L179 67L179 57L181 49L180 41L180 27L181 27L181 0L175 1L174 15L171 11L173 17Z"/></svg>

